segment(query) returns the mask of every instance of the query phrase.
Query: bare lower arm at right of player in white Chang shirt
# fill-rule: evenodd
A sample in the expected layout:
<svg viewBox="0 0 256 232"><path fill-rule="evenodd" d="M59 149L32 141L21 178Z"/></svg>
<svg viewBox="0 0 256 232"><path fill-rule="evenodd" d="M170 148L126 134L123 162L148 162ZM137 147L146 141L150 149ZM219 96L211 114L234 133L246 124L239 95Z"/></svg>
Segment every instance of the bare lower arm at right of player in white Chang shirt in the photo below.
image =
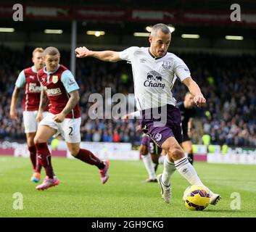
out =
<svg viewBox="0 0 256 232"><path fill-rule="evenodd" d="M188 87L191 94L194 95L194 102L197 104L197 107L201 107L205 104L205 97L202 95L199 86L192 78L186 78L183 80L183 84Z"/></svg>

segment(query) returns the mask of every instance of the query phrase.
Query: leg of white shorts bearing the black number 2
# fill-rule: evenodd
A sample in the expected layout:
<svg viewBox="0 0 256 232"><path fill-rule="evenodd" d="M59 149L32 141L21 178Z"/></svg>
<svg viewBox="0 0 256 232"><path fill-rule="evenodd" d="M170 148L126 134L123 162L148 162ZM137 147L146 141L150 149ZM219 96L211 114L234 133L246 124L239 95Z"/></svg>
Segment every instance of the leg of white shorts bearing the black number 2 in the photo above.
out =
<svg viewBox="0 0 256 232"><path fill-rule="evenodd" d="M80 143L80 124L81 118L65 118L59 126L59 130L66 143L76 144Z"/></svg>

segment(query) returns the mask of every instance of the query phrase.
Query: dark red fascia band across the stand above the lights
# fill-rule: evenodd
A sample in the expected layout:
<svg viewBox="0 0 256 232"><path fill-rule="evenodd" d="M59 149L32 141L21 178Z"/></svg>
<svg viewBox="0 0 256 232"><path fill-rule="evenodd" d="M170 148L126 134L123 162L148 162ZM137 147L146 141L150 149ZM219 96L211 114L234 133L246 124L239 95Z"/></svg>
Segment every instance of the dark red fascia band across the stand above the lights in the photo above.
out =
<svg viewBox="0 0 256 232"><path fill-rule="evenodd" d="M12 18L13 4L0 4L0 18ZM72 7L54 4L22 4L24 17L31 20L97 20L124 22L164 22L197 25L229 25L231 10L195 11L181 9L128 9L125 7ZM236 25L256 25L256 12L241 12Z"/></svg>

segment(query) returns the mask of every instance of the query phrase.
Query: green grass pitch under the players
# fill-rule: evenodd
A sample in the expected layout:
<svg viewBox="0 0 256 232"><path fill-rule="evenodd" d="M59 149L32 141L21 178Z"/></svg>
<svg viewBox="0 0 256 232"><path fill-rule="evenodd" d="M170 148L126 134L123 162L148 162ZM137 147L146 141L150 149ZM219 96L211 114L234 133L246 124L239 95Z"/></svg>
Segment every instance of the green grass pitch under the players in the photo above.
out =
<svg viewBox="0 0 256 232"><path fill-rule="evenodd" d="M204 211L186 209L183 191L189 186L181 175L172 177L173 197L166 204L158 183L143 183L146 170L141 161L110 161L110 179L102 185L98 169L76 159L52 159L60 185L37 191L30 182L28 158L0 157L0 217L256 217L256 166L215 165L196 162L197 173L222 199ZM162 165L157 173L162 172ZM44 172L43 172L44 173ZM22 210L14 210L16 199L23 197ZM232 193L239 193L241 209Z"/></svg>

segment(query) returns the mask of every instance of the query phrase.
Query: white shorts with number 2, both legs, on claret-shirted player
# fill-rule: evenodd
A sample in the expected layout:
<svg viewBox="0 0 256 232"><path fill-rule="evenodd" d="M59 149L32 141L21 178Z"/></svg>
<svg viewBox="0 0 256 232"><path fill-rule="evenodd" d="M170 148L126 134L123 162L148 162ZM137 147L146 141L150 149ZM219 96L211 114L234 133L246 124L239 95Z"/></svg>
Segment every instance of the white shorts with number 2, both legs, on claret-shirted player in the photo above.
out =
<svg viewBox="0 0 256 232"><path fill-rule="evenodd" d="M48 125L50 128L57 130L57 133L60 133L62 138L65 139L67 143L75 144L80 143L80 124L81 118L65 118L62 123L56 123L53 120L54 115L49 113L44 117L39 125Z"/></svg>

